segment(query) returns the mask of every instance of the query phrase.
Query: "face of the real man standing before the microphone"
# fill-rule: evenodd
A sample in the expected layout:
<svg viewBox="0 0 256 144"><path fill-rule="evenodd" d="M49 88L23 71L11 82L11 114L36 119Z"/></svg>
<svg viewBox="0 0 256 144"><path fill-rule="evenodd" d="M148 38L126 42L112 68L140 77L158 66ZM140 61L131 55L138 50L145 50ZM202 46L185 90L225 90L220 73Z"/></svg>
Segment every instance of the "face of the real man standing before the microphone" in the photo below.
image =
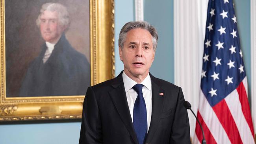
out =
<svg viewBox="0 0 256 144"><path fill-rule="evenodd" d="M119 47L119 55L127 76L145 78L155 56L151 34L140 28L128 31L124 47Z"/></svg>

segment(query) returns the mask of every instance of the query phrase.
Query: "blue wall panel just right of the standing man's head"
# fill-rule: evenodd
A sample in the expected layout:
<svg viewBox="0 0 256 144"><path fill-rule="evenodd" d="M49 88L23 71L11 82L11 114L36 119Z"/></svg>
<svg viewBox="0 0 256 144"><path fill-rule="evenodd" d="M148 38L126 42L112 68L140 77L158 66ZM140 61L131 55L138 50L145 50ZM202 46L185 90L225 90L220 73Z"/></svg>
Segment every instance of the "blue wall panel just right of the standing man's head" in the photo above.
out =
<svg viewBox="0 0 256 144"><path fill-rule="evenodd" d="M173 0L144 0L144 20L158 30L158 46L150 72L174 83Z"/></svg>

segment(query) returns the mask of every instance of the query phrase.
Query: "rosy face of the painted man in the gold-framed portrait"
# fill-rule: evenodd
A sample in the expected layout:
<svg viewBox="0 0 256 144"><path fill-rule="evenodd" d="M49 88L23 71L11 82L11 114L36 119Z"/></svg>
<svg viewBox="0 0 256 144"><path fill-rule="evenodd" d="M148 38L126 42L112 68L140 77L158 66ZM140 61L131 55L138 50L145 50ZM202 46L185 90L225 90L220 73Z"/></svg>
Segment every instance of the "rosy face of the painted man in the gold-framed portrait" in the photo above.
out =
<svg viewBox="0 0 256 144"><path fill-rule="evenodd" d="M46 42L58 42L64 28L59 25L58 13L56 11L44 11L42 13L40 30Z"/></svg>

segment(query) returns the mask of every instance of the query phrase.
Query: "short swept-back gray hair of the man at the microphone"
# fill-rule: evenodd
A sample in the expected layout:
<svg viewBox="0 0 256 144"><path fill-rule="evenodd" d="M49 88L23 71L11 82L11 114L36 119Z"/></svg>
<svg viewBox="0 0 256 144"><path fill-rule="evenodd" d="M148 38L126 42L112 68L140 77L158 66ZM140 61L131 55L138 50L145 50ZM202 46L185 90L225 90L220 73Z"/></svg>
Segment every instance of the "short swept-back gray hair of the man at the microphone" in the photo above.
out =
<svg viewBox="0 0 256 144"><path fill-rule="evenodd" d="M156 28L154 26L151 26L146 21L137 21L137 22L127 22L121 29L119 33L119 39L118 39L118 45L121 47L121 49L124 47L124 42L126 40L127 32L133 29L141 28L144 30L147 30L151 36L152 36L152 44L153 44L153 50L156 51L156 46L158 42L158 33L156 31Z"/></svg>

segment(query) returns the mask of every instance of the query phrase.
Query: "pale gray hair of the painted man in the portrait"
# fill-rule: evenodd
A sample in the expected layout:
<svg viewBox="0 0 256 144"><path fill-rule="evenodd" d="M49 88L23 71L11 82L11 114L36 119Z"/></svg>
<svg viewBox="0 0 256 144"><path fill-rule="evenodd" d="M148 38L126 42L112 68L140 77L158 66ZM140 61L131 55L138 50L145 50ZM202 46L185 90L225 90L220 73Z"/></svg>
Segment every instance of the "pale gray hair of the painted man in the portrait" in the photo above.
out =
<svg viewBox="0 0 256 144"><path fill-rule="evenodd" d="M41 24L41 15L46 10L52 11L52 12L56 11L58 13L58 17L59 17L59 24L61 26L67 26L67 29L69 28L70 20L69 20L69 13L67 11L67 7L63 6L62 4L51 3L51 2L43 4L43 6L40 10L40 14L36 20L36 24L39 28L40 28L40 24Z"/></svg>

